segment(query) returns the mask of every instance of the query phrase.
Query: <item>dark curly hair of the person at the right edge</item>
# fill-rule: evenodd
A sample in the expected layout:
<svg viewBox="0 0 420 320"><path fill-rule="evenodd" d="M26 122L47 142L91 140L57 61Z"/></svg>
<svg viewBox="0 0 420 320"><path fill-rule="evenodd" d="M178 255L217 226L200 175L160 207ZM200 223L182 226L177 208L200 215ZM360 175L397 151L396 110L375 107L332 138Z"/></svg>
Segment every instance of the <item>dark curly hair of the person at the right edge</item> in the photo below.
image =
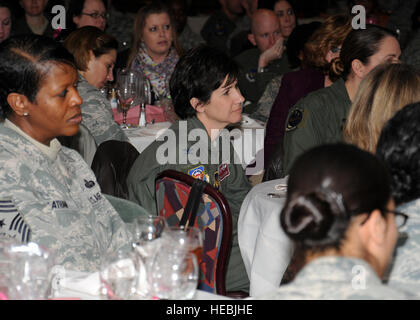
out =
<svg viewBox="0 0 420 320"><path fill-rule="evenodd" d="M376 155L391 176L395 203L420 198L420 102L398 111L382 129Z"/></svg>

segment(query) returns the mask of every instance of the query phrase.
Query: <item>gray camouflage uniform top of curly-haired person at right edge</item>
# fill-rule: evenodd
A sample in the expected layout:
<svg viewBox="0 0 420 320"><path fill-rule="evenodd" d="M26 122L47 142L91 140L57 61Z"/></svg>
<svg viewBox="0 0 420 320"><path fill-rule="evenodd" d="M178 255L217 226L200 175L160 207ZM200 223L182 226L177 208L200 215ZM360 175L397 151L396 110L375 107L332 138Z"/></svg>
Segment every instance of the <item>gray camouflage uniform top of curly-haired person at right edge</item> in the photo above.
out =
<svg viewBox="0 0 420 320"><path fill-rule="evenodd" d="M388 283L420 292L420 199L399 206L397 211L406 213L409 219L399 230Z"/></svg>

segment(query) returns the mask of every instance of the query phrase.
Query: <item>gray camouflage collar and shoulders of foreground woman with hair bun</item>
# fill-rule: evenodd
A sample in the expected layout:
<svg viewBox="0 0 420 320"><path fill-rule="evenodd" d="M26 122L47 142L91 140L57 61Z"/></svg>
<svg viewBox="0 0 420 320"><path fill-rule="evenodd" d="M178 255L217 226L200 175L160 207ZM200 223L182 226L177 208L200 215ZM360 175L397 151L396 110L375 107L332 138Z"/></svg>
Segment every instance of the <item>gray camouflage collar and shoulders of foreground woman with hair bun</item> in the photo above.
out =
<svg viewBox="0 0 420 320"><path fill-rule="evenodd" d="M326 256L307 264L290 284L257 299L402 300L418 297L382 284L376 272L364 260Z"/></svg>

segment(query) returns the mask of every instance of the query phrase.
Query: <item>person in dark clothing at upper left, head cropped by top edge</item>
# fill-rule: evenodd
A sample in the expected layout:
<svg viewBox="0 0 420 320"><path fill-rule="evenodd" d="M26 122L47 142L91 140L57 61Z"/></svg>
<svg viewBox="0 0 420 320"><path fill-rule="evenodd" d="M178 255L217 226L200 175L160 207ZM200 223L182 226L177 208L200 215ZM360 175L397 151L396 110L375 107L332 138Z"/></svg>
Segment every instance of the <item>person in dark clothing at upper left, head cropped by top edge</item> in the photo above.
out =
<svg viewBox="0 0 420 320"><path fill-rule="evenodd" d="M37 34L53 37L51 22L44 14L47 3L48 0L19 0L25 14L13 23L13 35Z"/></svg>

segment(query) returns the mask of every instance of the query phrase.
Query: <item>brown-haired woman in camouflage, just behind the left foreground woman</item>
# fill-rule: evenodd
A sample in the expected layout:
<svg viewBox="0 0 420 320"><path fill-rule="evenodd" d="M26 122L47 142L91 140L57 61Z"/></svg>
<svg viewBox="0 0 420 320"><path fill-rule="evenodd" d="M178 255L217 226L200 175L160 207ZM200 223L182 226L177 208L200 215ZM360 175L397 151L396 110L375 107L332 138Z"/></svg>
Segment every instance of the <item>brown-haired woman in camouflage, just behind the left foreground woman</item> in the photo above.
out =
<svg viewBox="0 0 420 320"><path fill-rule="evenodd" d="M73 54L79 71L77 90L83 99L82 124L98 146L107 140L128 141L114 121L110 102L100 91L107 81L114 80L117 40L96 27L86 26L73 31L64 46Z"/></svg>

